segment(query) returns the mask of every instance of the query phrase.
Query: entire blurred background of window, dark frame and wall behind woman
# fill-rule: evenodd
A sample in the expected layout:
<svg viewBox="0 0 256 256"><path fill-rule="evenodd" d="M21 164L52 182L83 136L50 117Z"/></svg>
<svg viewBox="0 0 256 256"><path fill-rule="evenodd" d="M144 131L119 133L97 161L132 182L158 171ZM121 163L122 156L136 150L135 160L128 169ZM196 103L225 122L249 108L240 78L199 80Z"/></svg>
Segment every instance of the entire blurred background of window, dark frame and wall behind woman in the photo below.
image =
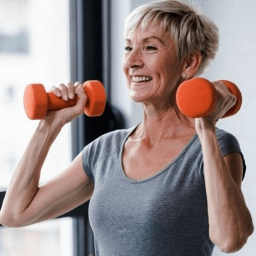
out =
<svg viewBox="0 0 256 256"><path fill-rule="evenodd" d="M29 83L47 89L68 81L99 79L109 108L102 129L85 117L66 125L54 142L40 182L61 172L100 133L131 127L142 120L139 104L129 99L121 70L124 17L149 0L0 0L0 187L2 198L38 121L26 117L24 90ZM202 75L226 79L243 95L240 112L218 127L235 135L247 164L242 189L256 220L256 5L254 0L194 0L220 30L215 61ZM97 34L98 33L98 34ZM95 73L96 72L96 73ZM102 120L102 119L99 119ZM102 122L101 122L102 123ZM94 134L94 136L91 136ZM94 255L87 206L74 214L24 228L0 228L1 256ZM255 224L255 223L254 223ZM255 255L255 232L231 255ZM218 248L214 256L224 255Z"/></svg>

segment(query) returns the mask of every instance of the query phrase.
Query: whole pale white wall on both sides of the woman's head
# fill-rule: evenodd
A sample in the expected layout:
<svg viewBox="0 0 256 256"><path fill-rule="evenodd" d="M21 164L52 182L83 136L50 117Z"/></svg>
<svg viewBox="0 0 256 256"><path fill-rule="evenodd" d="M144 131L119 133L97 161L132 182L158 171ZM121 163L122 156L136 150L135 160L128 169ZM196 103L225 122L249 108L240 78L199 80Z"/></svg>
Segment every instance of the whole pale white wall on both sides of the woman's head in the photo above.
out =
<svg viewBox="0 0 256 256"><path fill-rule="evenodd" d="M254 70L256 69L256 4L255 0L198 0L204 12L212 18L220 29L220 48L212 65L202 76L209 80L226 79L237 84L243 94L240 112L218 123L218 127L234 134L241 145L247 163L247 173L243 181L243 193L252 218L256 220L256 90ZM123 19L132 9L150 3L150 0L112 0L114 13L112 20L112 102L123 112L126 126L130 127L142 120L141 106L129 99L121 60L124 48ZM256 226L256 224L255 224ZM242 250L231 255L255 255L256 232L249 238ZM218 248L215 256L223 255Z"/></svg>

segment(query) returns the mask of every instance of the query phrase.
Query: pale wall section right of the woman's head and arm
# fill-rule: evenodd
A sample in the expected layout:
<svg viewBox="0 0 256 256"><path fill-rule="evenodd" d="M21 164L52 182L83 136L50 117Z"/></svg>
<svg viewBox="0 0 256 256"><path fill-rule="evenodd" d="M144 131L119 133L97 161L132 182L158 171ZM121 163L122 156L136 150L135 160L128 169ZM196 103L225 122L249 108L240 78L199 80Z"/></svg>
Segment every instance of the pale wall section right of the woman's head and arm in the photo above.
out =
<svg viewBox="0 0 256 256"><path fill-rule="evenodd" d="M204 76L210 80L226 79L237 84L243 95L240 112L219 121L218 126L234 134L241 145L247 164L242 190L256 221L256 4L255 0L203 1L202 9L219 27L220 48L216 60ZM256 225L256 224L255 224ZM256 232L244 248L231 255L255 255ZM215 250L214 255L224 255Z"/></svg>

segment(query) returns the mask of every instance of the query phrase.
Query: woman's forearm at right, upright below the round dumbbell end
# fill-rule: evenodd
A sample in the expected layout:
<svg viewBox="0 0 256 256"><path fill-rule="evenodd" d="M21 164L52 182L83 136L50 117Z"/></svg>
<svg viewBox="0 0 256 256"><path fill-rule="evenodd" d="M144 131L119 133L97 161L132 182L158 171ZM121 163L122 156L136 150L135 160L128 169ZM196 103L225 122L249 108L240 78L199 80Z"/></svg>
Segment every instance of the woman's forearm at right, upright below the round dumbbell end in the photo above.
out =
<svg viewBox="0 0 256 256"><path fill-rule="evenodd" d="M203 152L210 238L223 251L236 251L250 235L251 216L240 188L225 163L215 126L201 120L198 127Z"/></svg>

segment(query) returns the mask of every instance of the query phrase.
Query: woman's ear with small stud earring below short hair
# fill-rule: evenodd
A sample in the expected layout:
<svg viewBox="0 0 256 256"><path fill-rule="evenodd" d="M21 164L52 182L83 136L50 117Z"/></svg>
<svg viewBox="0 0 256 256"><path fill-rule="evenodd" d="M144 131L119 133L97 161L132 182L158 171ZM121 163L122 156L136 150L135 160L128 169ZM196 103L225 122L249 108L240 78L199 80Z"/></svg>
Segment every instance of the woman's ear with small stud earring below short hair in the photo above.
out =
<svg viewBox="0 0 256 256"><path fill-rule="evenodd" d="M202 61L202 55L199 51L191 52L183 62L183 78L190 79L192 78L198 71Z"/></svg>

